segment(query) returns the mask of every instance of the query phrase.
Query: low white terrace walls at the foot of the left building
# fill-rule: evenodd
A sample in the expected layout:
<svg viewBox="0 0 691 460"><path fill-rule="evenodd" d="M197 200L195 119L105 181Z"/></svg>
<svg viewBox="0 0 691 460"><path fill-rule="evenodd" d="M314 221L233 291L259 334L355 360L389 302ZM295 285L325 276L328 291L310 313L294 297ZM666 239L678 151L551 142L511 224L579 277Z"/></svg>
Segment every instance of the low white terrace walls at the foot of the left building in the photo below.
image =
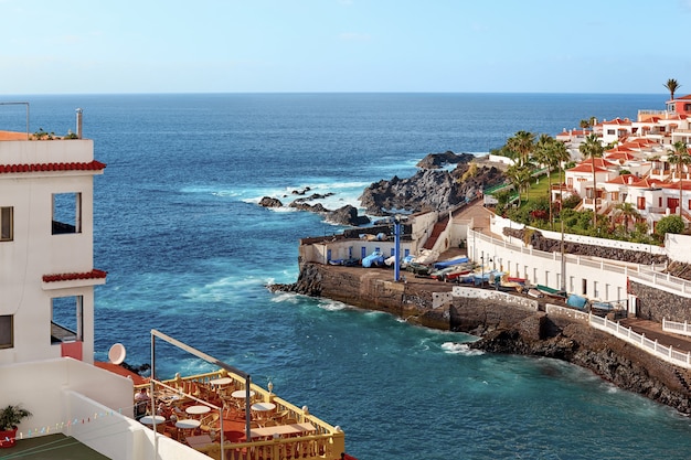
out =
<svg viewBox="0 0 691 460"><path fill-rule="evenodd" d="M33 414L18 436L63 432L113 460L209 460L187 446L156 437L132 415L131 379L71 359L0 366L0 407L21 404Z"/></svg>

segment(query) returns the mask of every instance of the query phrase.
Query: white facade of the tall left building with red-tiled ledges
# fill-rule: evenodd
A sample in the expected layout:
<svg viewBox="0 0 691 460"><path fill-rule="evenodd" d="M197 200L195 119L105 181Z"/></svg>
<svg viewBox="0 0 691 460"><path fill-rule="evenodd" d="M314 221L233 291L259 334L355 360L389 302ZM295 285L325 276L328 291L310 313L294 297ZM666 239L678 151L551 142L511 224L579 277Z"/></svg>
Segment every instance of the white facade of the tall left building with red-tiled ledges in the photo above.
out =
<svg viewBox="0 0 691 460"><path fill-rule="evenodd" d="M3 141L1 164L89 162L91 140ZM13 315L14 346L0 364L61 355L50 340L51 298L83 296L83 359L93 363L94 289L104 280L44 284L44 275L93 267L93 182L100 171L45 171L0 175L0 206L12 206L13 240L0 243L0 314ZM81 233L52 235L54 193L79 193Z"/></svg>

